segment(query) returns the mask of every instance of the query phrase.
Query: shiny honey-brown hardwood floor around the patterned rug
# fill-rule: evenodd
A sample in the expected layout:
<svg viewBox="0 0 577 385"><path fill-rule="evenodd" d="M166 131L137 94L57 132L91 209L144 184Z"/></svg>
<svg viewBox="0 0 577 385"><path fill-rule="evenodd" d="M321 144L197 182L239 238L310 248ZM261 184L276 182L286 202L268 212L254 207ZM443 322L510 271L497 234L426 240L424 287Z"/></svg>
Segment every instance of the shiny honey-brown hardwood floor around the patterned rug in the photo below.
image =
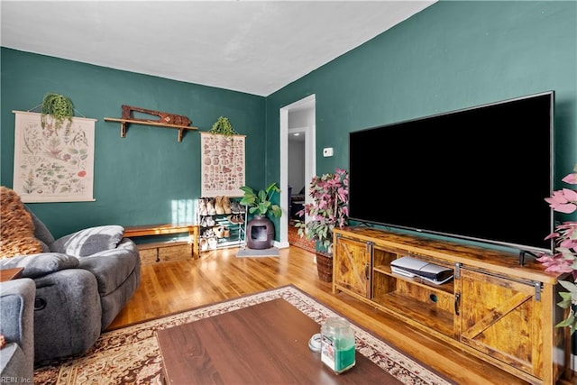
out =
<svg viewBox="0 0 577 385"><path fill-rule="evenodd" d="M312 252L291 246L281 249L278 258L236 258L237 250L203 252L199 260L142 266L139 289L109 329L293 284L456 383L526 383L346 294L333 295L331 283L318 280Z"/></svg>

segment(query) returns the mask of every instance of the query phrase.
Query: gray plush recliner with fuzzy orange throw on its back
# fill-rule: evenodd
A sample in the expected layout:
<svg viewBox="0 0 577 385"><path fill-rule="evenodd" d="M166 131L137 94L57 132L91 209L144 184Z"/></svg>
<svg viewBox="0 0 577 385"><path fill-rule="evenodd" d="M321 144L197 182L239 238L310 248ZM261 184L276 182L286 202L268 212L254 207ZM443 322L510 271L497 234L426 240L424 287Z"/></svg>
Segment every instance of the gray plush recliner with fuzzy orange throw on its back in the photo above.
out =
<svg viewBox="0 0 577 385"><path fill-rule="evenodd" d="M42 364L85 353L96 342L138 288L141 260L122 226L91 227L55 240L31 215L44 252L0 260L0 269L23 267L23 277L36 284L34 362Z"/></svg>

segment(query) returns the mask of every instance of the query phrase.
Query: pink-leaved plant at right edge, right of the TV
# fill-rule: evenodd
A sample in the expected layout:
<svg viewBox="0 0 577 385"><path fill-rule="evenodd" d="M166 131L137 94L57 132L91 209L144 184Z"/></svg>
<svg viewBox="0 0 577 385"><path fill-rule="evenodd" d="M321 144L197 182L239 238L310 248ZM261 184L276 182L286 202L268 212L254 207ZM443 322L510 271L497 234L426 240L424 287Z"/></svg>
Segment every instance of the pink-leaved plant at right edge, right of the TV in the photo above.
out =
<svg viewBox="0 0 577 385"><path fill-rule="evenodd" d="M573 172L562 179L563 182L577 185L577 166ZM545 198L545 201L554 209L554 211L563 214L572 214L577 212L577 190L563 188L553 192L551 197ZM557 305L562 308L569 308L568 316L558 323L557 327L569 327L571 334L577 329L577 221L564 221L555 226L555 231L549 234L545 239L553 239L555 243L554 254L540 253L537 261L543 263L545 271L555 271L569 273L570 280L560 280L559 284L568 291L560 292L562 298Z"/></svg>

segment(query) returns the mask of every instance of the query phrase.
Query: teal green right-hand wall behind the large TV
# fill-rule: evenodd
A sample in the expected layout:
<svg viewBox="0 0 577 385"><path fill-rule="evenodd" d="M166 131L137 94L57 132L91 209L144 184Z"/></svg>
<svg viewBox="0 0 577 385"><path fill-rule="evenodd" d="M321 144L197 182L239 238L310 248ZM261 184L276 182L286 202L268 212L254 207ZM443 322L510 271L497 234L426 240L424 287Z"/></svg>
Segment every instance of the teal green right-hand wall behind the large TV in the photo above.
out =
<svg viewBox="0 0 577 385"><path fill-rule="evenodd" d="M268 96L269 147L278 148L279 108L311 94L322 174L348 167L352 131L554 90L561 179L577 163L576 50L576 2L442 1Z"/></svg>

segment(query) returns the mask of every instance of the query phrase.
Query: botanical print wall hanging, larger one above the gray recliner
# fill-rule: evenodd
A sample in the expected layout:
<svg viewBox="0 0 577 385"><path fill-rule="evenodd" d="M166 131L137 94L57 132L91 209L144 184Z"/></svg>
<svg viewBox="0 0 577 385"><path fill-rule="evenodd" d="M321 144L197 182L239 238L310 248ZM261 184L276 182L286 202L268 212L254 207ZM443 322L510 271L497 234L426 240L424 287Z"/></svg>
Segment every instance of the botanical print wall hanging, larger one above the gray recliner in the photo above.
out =
<svg viewBox="0 0 577 385"><path fill-rule="evenodd" d="M14 191L23 202L93 201L96 119L73 117L54 128L48 116L13 111Z"/></svg>

